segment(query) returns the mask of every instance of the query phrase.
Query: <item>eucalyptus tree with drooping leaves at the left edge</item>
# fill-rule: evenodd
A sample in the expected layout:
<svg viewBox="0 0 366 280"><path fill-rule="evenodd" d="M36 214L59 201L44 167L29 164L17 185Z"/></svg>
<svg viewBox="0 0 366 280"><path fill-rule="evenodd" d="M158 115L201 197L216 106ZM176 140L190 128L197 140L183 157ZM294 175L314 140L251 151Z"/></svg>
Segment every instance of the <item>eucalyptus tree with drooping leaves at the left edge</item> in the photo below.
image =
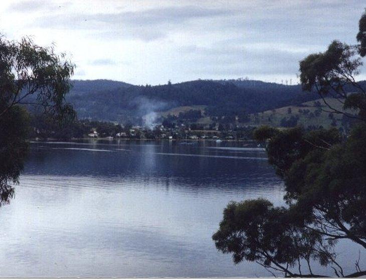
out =
<svg viewBox="0 0 366 280"><path fill-rule="evenodd" d="M14 195L27 154L29 129L26 105L42 108L60 123L73 119L65 95L71 88L74 64L54 47L42 47L25 37L0 35L0 204Z"/></svg>

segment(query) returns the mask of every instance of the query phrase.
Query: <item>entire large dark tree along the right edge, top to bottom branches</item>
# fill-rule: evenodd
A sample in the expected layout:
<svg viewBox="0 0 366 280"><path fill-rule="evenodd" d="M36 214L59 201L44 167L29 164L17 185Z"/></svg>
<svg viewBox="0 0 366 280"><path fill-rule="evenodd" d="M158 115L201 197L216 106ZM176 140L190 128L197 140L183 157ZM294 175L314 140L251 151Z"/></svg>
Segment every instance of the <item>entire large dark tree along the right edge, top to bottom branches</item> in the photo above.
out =
<svg viewBox="0 0 366 280"><path fill-rule="evenodd" d="M365 21L362 15L359 45L333 41L325 52L300 61L303 89L315 88L329 112L357 120L346 138L335 128L255 130L284 180L287 206L275 207L262 198L229 203L213 239L219 250L233 254L234 262L256 261L274 276L366 275L358 251L354 271L345 271L337 259L340 240L366 252L366 93L355 78L366 55ZM353 112L346 111L350 108ZM314 273L314 262L328 268L327 274Z"/></svg>

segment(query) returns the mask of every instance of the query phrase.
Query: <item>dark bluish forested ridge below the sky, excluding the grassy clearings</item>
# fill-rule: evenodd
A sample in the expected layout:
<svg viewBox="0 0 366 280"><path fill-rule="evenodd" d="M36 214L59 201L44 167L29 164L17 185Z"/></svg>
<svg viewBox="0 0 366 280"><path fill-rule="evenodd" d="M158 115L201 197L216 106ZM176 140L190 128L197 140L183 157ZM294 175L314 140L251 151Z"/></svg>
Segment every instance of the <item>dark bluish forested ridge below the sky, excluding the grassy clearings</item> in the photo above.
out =
<svg viewBox="0 0 366 280"><path fill-rule="evenodd" d="M79 118L141 122L146 114L178 106L205 105L206 116L253 113L318 98L300 85L254 80L194 80L132 85L112 80L74 80L68 95Z"/></svg>

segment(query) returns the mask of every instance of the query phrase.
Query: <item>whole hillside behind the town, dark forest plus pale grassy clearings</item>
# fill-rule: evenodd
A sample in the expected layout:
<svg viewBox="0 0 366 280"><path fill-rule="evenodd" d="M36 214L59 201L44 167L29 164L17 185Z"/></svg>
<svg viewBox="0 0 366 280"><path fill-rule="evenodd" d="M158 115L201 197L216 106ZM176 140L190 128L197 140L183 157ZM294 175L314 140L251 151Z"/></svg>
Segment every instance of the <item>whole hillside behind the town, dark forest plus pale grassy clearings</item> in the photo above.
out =
<svg viewBox="0 0 366 280"><path fill-rule="evenodd" d="M237 117L240 125L291 126L296 119L296 123L306 126L340 126L339 115L329 115L319 104L314 105L318 97L315 92L302 91L300 85L256 80L194 80L143 86L99 79L73 80L67 101L80 119L121 124L151 125L167 118L210 125L234 123Z"/></svg>

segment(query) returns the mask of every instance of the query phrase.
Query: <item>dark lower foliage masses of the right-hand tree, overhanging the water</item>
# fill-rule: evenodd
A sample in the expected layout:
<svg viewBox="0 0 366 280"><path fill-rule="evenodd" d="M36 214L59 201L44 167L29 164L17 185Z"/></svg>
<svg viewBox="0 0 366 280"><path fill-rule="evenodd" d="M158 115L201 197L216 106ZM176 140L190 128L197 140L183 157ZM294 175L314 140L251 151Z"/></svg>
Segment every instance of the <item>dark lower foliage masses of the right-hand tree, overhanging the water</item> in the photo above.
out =
<svg viewBox="0 0 366 280"><path fill-rule="evenodd" d="M292 269L300 261L309 269L310 259L337 266L338 239L366 248L366 124L344 142L335 128L262 127L254 134L267 139L268 159L284 179L288 207L265 199L231 202L213 235L217 248L233 253L236 263L257 261L290 276L304 276ZM341 268L336 273L343 275Z"/></svg>

